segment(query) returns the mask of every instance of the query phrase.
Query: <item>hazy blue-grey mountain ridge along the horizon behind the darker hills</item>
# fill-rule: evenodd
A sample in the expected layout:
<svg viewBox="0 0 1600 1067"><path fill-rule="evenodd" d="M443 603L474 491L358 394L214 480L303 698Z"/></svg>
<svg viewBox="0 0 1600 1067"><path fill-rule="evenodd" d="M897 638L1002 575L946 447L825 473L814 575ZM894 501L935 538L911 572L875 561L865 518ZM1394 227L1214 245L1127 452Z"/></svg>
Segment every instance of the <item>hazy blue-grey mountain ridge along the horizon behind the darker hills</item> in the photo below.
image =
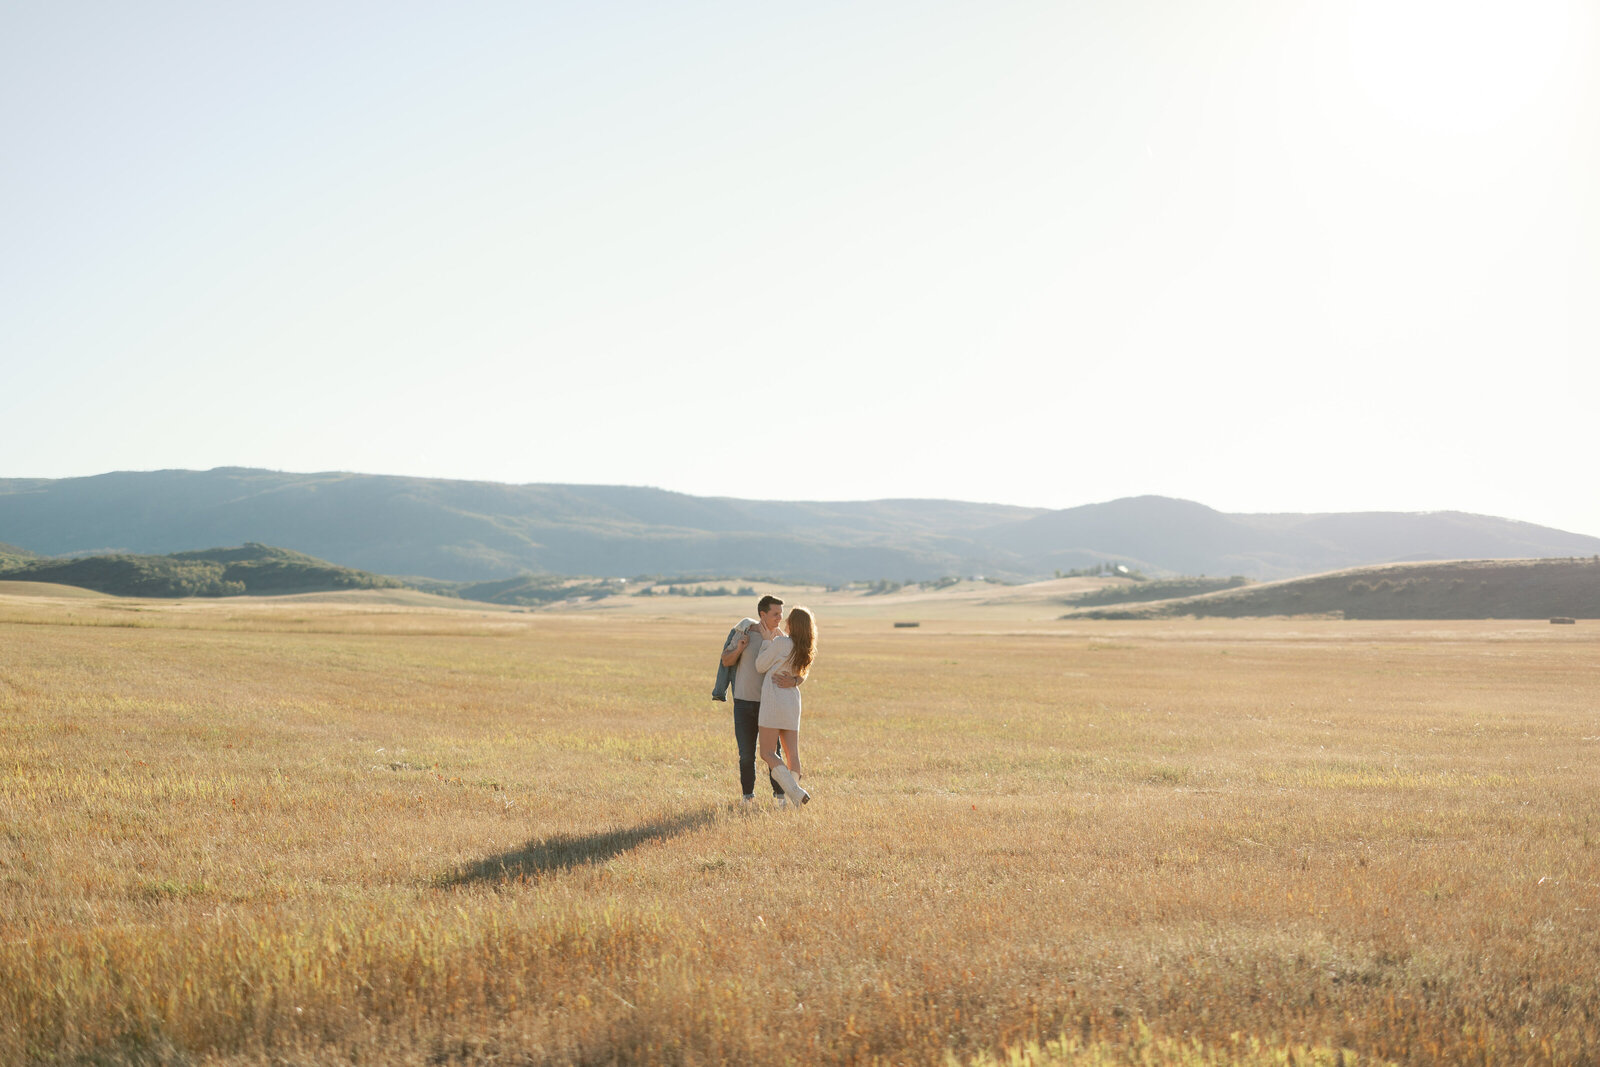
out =
<svg viewBox="0 0 1600 1067"><path fill-rule="evenodd" d="M1464 512L1229 515L1160 496L1062 510L742 501L246 467L0 480L0 542L45 557L264 542L362 571L475 582L530 573L1021 581L1101 561L1277 579L1406 560L1600 553L1600 537Z"/></svg>

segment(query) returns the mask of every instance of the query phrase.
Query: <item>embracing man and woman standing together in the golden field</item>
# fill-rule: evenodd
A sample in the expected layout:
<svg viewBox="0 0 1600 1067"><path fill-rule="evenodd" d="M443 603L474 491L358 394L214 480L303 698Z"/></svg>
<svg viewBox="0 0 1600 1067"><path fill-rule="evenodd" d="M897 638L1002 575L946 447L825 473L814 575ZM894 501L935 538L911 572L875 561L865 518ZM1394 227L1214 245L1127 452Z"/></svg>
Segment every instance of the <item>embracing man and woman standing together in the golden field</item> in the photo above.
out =
<svg viewBox="0 0 1600 1067"><path fill-rule="evenodd" d="M773 798L800 806L800 686L816 659L816 621L805 608L784 619L784 601L762 597L754 619L741 619L722 646L712 699L733 686L733 736L739 744L739 787L755 800L755 753L768 768Z"/></svg>

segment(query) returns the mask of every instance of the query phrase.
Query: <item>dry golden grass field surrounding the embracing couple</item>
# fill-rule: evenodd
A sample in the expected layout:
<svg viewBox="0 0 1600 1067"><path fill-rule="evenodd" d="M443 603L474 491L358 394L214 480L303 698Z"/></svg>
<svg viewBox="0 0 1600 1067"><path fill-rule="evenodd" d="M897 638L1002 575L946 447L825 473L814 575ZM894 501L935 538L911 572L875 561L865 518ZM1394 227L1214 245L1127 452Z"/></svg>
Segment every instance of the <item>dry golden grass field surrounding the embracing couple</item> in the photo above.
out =
<svg viewBox="0 0 1600 1067"><path fill-rule="evenodd" d="M3 1064L1600 1061L1592 622L819 593L789 813L709 699L754 605L48 592Z"/></svg>

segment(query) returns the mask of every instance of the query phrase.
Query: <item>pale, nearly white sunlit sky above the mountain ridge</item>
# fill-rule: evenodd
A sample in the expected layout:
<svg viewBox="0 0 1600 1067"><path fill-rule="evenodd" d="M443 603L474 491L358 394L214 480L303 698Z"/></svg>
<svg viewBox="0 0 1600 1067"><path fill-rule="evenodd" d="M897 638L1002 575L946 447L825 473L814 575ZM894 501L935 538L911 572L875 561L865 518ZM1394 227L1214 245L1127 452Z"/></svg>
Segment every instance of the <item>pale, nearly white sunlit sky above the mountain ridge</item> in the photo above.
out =
<svg viewBox="0 0 1600 1067"><path fill-rule="evenodd" d="M1600 534L1592 0L0 8L0 477Z"/></svg>

